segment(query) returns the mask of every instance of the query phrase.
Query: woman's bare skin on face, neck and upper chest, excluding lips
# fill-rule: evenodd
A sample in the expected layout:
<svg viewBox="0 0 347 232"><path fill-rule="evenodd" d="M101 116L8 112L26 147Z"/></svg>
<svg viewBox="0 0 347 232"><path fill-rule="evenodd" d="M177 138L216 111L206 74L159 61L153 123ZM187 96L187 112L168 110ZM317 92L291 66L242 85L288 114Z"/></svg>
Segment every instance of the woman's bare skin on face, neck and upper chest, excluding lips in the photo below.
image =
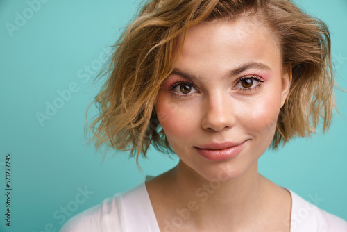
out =
<svg viewBox="0 0 347 232"><path fill-rule="evenodd" d="M146 182L160 231L290 231L289 192L257 169L291 83L271 30L251 17L198 24L175 70L155 110L180 161ZM222 142L242 147L218 161L196 149Z"/></svg>

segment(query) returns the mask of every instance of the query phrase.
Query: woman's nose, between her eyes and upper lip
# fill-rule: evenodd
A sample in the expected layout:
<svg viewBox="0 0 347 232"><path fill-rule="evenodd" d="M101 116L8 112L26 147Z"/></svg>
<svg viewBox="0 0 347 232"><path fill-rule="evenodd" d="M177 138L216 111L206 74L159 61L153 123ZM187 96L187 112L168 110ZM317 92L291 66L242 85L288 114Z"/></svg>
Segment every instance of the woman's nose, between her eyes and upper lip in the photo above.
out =
<svg viewBox="0 0 347 232"><path fill-rule="evenodd" d="M202 109L202 128L208 131L230 129L235 124L235 115L232 108L229 94L214 94L212 97L207 97Z"/></svg>

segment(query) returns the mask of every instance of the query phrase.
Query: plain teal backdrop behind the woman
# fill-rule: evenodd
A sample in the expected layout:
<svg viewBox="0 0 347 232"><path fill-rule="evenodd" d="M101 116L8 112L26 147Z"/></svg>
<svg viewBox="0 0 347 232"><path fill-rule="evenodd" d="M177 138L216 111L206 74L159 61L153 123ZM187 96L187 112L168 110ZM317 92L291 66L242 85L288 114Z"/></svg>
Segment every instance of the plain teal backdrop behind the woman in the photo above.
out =
<svg viewBox="0 0 347 232"><path fill-rule="evenodd" d="M85 145L85 110L99 86L92 78L103 62L105 47L133 18L139 0L46 0L33 15L28 2L0 0L0 231L4 232L58 231L72 215L178 162L152 149L149 160L140 159L143 171L139 172L135 159L129 160L126 153L110 155L102 163L101 155ZM347 2L297 2L330 27L336 81L347 89ZM11 36L6 23L15 24L17 13L26 13L28 19ZM45 113L46 101L53 103L60 97L58 91L71 85L75 92L66 95L62 107L41 125L37 112ZM337 91L336 99L340 114L335 113L328 133L298 138L266 152L260 158L260 172L308 201L317 195L320 208L347 219L347 94ZM8 153L12 154L10 228L3 220ZM81 197L78 192L85 188L89 194Z"/></svg>

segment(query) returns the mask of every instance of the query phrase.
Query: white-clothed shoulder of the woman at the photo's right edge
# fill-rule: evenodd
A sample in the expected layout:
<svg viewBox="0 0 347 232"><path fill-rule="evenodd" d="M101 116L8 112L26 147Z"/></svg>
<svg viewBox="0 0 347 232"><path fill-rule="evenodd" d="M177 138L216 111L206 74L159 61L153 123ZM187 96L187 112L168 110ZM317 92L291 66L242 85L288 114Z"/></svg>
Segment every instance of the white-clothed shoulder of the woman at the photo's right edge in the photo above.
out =
<svg viewBox="0 0 347 232"><path fill-rule="evenodd" d="M346 232L347 222L340 217L318 208L314 204L291 192L291 231L317 231L317 232ZM311 200L319 204L320 198L310 196Z"/></svg>

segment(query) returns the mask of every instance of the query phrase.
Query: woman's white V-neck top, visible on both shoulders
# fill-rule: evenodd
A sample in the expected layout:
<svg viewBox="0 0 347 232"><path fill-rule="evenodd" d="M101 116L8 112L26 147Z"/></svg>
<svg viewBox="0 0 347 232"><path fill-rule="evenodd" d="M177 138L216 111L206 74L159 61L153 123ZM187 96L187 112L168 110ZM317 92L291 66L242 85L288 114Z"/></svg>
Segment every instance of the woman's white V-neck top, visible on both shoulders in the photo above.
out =
<svg viewBox="0 0 347 232"><path fill-rule="evenodd" d="M347 222L291 193L291 232L347 232ZM178 224L167 223L165 231ZM144 183L72 217L60 232L160 232Z"/></svg>

